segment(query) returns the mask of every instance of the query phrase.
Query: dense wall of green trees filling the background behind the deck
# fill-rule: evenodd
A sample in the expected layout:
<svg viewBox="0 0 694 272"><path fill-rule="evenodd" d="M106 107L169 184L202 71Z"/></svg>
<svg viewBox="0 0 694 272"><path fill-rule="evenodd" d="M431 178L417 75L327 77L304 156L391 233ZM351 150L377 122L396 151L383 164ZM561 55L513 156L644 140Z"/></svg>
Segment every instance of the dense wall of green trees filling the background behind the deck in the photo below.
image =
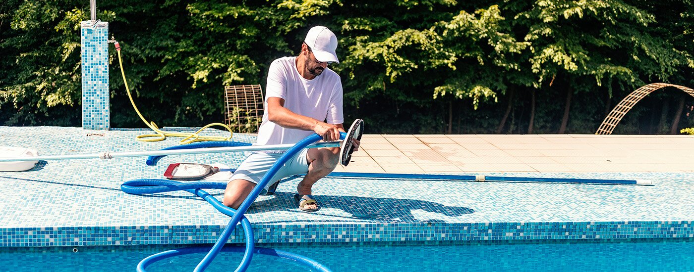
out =
<svg viewBox="0 0 694 272"><path fill-rule="evenodd" d="M1 125L80 125L88 8L0 6ZM297 55L315 25L337 34L341 63L331 69L343 79L346 116L371 132L441 133L449 122L453 132L493 132L513 87L505 132L525 133L532 91L534 132L556 132L564 90L574 90L567 131L592 133L606 108L643 84L694 86L691 0L118 0L99 3L97 17L123 47L142 114L162 126L219 122L223 86L264 84L270 62ZM144 127L110 54L112 126ZM657 131L639 120L675 96L652 96L619 132Z"/></svg>

